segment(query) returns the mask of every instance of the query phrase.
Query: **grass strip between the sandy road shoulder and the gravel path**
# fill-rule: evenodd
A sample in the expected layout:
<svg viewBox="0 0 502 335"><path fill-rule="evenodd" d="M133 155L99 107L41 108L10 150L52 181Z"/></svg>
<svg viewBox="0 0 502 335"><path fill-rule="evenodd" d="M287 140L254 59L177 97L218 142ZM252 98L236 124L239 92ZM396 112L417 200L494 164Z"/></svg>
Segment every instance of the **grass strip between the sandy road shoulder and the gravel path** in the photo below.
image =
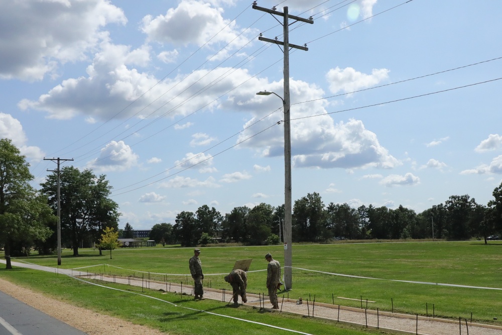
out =
<svg viewBox="0 0 502 335"><path fill-rule="evenodd" d="M335 325L334 322L319 319L270 313L242 306L232 308L226 306L223 302L213 300L194 301L190 296L180 296L175 293L162 294L159 291L149 290L142 292L141 288L138 287L106 283L106 286L122 291L110 290L82 283L65 275L24 268L2 269L0 270L0 277L57 299L103 314L121 317L137 324L148 325L173 335L202 333L205 335L219 335L233 332L245 332L249 335L291 333L290 331L242 320L267 323L276 327L321 335L381 333ZM201 309L205 312L201 311ZM233 318L239 318L240 320Z"/></svg>

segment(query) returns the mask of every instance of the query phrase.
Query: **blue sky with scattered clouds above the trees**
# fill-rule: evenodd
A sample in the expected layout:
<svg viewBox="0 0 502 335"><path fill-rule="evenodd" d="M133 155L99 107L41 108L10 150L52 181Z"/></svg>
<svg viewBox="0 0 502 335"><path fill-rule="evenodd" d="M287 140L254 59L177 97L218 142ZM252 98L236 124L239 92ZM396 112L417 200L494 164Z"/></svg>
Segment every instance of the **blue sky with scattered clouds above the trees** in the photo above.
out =
<svg viewBox="0 0 502 335"><path fill-rule="evenodd" d="M292 199L486 205L502 181L502 2L258 0L289 22ZM284 203L283 18L242 0L0 2L0 137L104 174L119 228ZM257 95L259 91L276 95ZM73 159L66 161L65 159Z"/></svg>

